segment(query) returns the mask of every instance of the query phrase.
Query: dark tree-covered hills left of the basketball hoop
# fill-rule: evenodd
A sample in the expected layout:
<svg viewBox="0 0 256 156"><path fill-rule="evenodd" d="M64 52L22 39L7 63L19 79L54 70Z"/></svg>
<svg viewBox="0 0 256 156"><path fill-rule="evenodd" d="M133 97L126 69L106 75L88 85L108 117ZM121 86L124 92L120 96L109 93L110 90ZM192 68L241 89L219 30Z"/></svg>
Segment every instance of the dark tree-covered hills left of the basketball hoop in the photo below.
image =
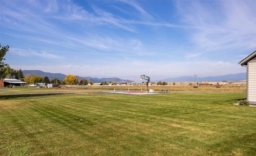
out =
<svg viewBox="0 0 256 156"><path fill-rule="evenodd" d="M43 76L43 78L47 76L50 81L53 80L54 78L58 78L58 80L64 80L67 77L67 75L65 74L43 72L41 70L22 70L22 72L24 76L26 76L26 74L35 74L38 76ZM120 82L120 83L133 82L132 80L123 80L120 78L92 78L92 77L81 77L81 76L76 76L76 77L79 79L79 81L84 78L93 83L113 82L113 81Z"/></svg>

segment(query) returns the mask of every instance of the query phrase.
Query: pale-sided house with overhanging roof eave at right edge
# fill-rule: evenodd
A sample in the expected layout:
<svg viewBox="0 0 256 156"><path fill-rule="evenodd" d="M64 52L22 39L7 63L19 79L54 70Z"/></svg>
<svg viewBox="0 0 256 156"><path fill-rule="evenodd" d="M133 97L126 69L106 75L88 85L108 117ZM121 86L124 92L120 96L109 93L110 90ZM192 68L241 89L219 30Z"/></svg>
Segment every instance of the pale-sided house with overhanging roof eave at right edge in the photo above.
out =
<svg viewBox="0 0 256 156"><path fill-rule="evenodd" d="M239 62L247 68L247 101L256 104L256 51Z"/></svg>

